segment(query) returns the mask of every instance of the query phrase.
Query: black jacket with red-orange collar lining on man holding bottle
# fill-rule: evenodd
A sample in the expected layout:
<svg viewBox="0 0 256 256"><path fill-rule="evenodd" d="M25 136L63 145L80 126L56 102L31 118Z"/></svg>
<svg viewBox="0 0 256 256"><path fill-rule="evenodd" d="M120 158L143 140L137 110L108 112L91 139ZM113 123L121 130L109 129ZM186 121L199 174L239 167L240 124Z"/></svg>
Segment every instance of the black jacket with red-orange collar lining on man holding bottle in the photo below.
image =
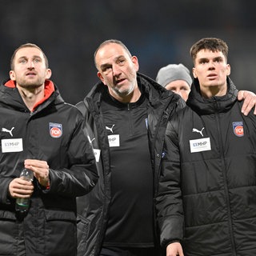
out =
<svg viewBox="0 0 256 256"><path fill-rule="evenodd" d="M27 256L75 255L75 199L98 179L82 114L63 102L52 82L46 81L46 90L49 98L30 113L12 82L0 86L0 255L17 255L22 242ZM9 184L26 158L48 163L50 189L34 178L30 210L18 220Z"/></svg>

